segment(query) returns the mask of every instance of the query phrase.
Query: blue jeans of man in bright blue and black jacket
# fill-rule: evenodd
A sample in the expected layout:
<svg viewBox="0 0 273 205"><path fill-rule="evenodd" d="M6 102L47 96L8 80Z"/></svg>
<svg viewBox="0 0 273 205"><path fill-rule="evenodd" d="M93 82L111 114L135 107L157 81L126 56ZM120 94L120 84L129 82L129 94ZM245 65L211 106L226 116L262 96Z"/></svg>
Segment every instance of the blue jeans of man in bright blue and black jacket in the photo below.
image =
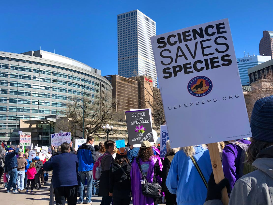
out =
<svg viewBox="0 0 273 205"><path fill-rule="evenodd" d="M87 192L86 192L86 201L90 202L92 197L92 186L93 186L93 170L79 172L81 177L81 186L80 186L80 198L79 202L84 201L84 184L85 179L87 179Z"/></svg>

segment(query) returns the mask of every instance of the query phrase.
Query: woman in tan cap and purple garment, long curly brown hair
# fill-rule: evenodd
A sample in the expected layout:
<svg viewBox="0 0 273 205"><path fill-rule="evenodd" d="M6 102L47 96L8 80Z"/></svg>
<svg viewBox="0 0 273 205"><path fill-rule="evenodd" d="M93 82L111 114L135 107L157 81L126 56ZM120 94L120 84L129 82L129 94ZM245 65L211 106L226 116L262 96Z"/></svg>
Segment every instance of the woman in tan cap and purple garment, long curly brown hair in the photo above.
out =
<svg viewBox="0 0 273 205"><path fill-rule="evenodd" d="M132 197L133 204L146 204L154 205L162 203L161 197L151 198L145 197L142 194L141 182L142 174L136 159L139 159L141 169L143 171L144 177L149 183L157 183L161 173L161 160L159 156L154 155L152 145L149 141L141 142L140 150L138 152L138 157L133 159L131 176L131 187L132 187ZM161 165L161 166L160 166Z"/></svg>

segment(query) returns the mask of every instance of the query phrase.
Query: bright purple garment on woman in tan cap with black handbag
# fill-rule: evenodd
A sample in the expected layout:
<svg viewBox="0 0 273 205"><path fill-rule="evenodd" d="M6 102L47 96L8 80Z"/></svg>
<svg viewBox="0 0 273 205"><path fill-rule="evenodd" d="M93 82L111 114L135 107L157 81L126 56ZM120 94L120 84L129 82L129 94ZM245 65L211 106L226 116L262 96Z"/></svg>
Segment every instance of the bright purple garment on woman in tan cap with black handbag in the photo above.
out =
<svg viewBox="0 0 273 205"><path fill-rule="evenodd" d="M140 159L140 166L142 167L142 169L144 169L143 172L147 173L146 178L147 178L147 181L150 183L153 183L154 166L157 161L159 162L160 170L162 170L162 163L159 156L153 157L152 160L149 162L142 162ZM138 167L138 164L136 163L136 158L133 160L130 175L131 175L133 204L153 205L154 199L150 197L145 197L142 194L141 183L140 183L142 175Z"/></svg>

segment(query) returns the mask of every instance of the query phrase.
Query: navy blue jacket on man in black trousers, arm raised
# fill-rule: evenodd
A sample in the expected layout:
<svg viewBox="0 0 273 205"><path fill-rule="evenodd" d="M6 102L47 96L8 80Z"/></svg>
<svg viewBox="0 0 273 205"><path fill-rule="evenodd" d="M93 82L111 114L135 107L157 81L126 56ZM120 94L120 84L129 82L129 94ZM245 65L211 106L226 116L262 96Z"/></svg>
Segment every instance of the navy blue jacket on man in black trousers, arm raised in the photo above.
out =
<svg viewBox="0 0 273 205"><path fill-rule="evenodd" d="M79 161L75 154L62 153L52 156L44 163L44 171L52 172L52 184L54 188L61 186L79 186L78 176Z"/></svg>

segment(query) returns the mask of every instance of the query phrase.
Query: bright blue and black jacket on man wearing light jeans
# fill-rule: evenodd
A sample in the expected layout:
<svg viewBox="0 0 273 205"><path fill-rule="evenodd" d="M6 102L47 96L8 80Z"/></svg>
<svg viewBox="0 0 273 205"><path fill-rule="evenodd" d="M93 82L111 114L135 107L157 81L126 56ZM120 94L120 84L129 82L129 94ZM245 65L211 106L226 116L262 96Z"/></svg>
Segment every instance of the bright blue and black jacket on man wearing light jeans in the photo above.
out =
<svg viewBox="0 0 273 205"><path fill-rule="evenodd" d="M79 171L86 172L93 170L94 162L96 160L95 148L87 143L82 144L77 150L79 159Z"/></svg>

